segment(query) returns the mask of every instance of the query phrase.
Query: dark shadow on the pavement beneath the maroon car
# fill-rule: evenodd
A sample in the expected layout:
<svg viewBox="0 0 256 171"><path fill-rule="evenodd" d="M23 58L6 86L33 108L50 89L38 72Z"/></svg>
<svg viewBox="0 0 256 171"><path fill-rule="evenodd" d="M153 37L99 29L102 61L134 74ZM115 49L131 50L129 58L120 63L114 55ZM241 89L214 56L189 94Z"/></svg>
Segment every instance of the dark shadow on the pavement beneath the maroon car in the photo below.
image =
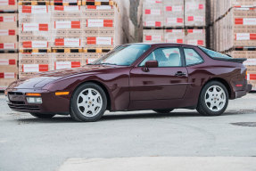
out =
<svg viewBox="0 0 256 171"><path fill-rule="evenodd" d="M239 115L247 113L246 111L227 111L220 117ZM139 118L194 118L194 117L203 117L198 112L171 112L168 114L161 114L155 112L146 112L146 113L125 113L125 112L112 112L103 116L98 122L110 121L110 120L123 120L123 119L139 119ZM54 118L18 118L19 124L29 124L29 123L77 123L70 116L55 116Z"/></svg>

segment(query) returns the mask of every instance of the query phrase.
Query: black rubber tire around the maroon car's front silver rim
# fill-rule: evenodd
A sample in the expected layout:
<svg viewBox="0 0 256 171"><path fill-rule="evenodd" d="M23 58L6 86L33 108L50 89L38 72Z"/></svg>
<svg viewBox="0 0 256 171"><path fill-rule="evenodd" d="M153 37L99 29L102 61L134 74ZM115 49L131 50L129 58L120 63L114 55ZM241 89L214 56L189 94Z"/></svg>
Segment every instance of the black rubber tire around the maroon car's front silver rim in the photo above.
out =
<svg viewBox="0 0 256 171"><path fill-rule="evenodd" d="M80 112L78 109L78 95L86 90L87 88L93 88L95 89L102 97L102 108L98 111L98 113L93 117L87 117ZM72 98L70 100L70 117L78 122L95 122L96 120L102 118L105 110L107 108L107 97L106 94L103 91L103 88L99 85L95 85L94 83L85 83L83 85L78 86L77 90L72 95Z"/></svg>

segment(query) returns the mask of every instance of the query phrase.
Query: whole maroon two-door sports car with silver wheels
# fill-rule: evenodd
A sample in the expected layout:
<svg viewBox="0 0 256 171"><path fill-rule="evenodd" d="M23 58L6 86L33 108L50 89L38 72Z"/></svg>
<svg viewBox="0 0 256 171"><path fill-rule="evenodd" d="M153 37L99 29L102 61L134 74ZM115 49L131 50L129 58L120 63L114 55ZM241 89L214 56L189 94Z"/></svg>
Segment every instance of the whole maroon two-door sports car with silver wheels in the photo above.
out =
<svg viewBox="0 0 256 171"><path fill-rule="evenodd" d="M37 118L70 114L77 121L95 121L105 110L178 108L217 116L228 99L252 89L245 60L194 45L120 45L87 66L21 78L5 94L12 110Z"/></svg>

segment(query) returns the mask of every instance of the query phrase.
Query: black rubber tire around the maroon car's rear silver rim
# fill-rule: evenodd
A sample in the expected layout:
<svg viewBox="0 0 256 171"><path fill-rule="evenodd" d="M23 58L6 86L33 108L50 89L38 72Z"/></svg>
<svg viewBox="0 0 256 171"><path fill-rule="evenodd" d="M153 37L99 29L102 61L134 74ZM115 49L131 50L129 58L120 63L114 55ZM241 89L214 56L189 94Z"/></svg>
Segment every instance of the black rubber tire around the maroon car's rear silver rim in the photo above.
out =
<svg viewBox="0 0 256 171"><path fill-rule="evenodd" d="M212 85L218 85L220 88L222 88L222 90L224 91L224 94L226 95L226 101L223 100L224 102L226 102L223 106L221 110L218 111L213 111L208 107L208 103L206 102L206 92L207 90L212 86ZM215 94L214 94L215 95ZM214 97L213 97L214 98ZM210 98L211 99L211 98ZM212 100L212 99L211 99ZM215 98L213 100L213 102L217 102L218 103L219 99ZM219 81L211 81L209 83L207 83L206 85L204 85L202 87L201 90L201 94L199 96L199 100L198 100L198 104L197 104L197 108L196 110L202 114L203 116L219 116L221 114L224 113L224 111L227 109L227 104L228 104L228 93L227 93L227 88L225 85L223 85L222 83L220 83Z"/></svg>

